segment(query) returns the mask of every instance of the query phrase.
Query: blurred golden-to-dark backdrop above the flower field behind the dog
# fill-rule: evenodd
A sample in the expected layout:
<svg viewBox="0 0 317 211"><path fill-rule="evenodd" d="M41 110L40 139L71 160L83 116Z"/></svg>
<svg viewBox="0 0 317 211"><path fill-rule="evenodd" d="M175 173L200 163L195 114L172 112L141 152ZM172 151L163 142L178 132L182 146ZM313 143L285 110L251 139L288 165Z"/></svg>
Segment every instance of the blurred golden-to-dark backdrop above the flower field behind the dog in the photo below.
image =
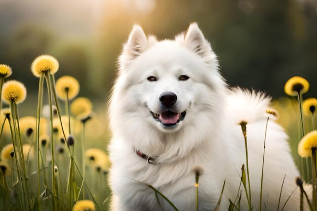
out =
<svg viewBox="0 0 317 211"><path fill-rule="evenodd" d="M146 34L171 38L197 22L219 57L229 85L285 96L292 76L317 89L315 0L0 0L0 63L12 78L37 90L33 59L51 54L57 77L71 75L81 95L106 102L122 44L134 23Z"/></svg>

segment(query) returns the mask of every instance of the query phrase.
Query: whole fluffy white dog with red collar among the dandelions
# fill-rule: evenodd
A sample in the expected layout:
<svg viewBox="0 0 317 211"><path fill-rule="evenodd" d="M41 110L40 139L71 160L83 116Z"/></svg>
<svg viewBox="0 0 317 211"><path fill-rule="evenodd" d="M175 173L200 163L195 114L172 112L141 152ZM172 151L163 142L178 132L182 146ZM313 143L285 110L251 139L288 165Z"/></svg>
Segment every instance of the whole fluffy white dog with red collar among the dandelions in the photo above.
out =
<svg viewBox="0 0 317 211"><path fill-rule="evenodd" d="M228 89L218 71L215 53L196 23L174 40L157 41L133 27L120 57L120 71L109 105L113 137L111 210L195 209L195 175L199 179L199 210L214 210L226 180L219 210L228 210L239 191L246 164L240 126L247 121L247 143L253 210L259 210L266 109L270 98L239 88ZM272 116L273 117L273 116ZM299 172L287 135L268 121L262 209L280 209L296 189ZM248 187L248 185L247 185ZM248 210L242 186L240 210ZM265 204L264 204L265 203ZM299 210L297 188L284 210Z"/></svg>

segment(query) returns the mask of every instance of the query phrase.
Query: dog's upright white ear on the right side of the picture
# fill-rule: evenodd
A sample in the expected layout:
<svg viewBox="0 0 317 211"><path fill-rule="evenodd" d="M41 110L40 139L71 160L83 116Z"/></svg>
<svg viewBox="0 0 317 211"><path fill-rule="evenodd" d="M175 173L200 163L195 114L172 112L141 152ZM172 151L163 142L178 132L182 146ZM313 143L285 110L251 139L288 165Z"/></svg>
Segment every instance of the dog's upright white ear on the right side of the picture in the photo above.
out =
<svg viewBox="0 0 317 211"><path fill-rule="evenodd" d="M201 57L210 55L211 47L197 23L192 23L185 34L185 46Z"/></svg>

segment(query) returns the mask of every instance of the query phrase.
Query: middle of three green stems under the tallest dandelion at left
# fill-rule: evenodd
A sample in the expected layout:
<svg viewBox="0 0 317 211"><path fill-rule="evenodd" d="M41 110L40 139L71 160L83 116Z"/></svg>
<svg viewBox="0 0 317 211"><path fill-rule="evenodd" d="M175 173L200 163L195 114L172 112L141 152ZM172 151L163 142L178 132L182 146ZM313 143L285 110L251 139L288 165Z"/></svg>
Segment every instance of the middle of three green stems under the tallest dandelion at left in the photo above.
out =
<svg viewBox="0 0 317 211"><path fill-rule="evenodd" d="M57 201L56 201L56 181L54 176L54 166L55 166L55 158L54 158L54 141L53 141L53 110L52 110L52 89L51 89L51 79L48 75L49 73L45 73L46 85L49 93L49 105L50 105L50 128L51 128L51 154L52 154L52 192L53 192L53 209L57 209Z"/></svg>

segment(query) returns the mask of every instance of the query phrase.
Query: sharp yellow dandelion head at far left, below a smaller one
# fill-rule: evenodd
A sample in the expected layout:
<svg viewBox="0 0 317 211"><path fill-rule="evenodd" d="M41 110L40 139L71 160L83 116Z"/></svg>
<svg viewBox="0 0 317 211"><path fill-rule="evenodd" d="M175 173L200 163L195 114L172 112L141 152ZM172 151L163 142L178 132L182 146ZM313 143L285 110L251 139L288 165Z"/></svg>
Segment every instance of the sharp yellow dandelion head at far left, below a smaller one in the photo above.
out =
<svg viewBox="0 0 317 211"><path fill-rule="evenodd" d="M17 80L9 80L5 82L2 88L2 100L10 104L15 102L16 104L22 103L26 98L26 89L23 83Z"/></svg>

